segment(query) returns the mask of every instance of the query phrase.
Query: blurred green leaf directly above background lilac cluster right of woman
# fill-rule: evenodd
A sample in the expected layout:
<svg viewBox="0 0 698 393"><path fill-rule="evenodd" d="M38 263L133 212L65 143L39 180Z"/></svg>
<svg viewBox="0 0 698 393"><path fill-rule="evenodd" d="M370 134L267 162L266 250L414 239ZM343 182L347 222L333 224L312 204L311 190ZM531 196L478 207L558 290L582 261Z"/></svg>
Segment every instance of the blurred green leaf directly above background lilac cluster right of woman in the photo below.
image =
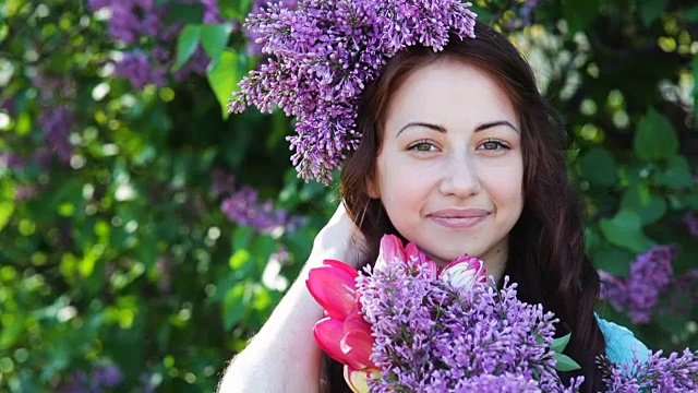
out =
<svg viewBox="0 0 698 393"><path fill-rule="evenodd" d="M613 218L601 221L601 233L610 243L640 253L647 251L652 242L642 233L640 216L631 211L622 210Z"/></svg>

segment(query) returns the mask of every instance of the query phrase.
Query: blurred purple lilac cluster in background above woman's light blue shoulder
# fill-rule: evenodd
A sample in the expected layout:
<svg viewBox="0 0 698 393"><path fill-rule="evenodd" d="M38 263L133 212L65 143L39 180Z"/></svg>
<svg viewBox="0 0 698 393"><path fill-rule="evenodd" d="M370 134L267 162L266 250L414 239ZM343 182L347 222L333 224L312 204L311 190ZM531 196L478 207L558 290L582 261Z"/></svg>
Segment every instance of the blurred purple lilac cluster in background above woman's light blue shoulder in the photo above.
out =
<svg viewBox="0 0 698 393"><path fill-rule="evenodd" d="M673 247L659 246L630 263L627 278L600 271L601 298L616 310L626 311L634 323L648 323L660 295L672 283L674 258Z"/></svg>

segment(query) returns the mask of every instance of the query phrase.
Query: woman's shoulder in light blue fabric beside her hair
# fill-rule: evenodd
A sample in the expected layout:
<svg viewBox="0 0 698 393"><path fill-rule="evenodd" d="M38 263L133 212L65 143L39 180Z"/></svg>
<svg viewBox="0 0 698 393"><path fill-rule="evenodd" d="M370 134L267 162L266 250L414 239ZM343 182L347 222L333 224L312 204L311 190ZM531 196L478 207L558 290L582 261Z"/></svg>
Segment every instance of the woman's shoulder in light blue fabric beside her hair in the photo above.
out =
<svg viewBox="0 0 698 393"><path fill-rule="evenodd" d="M606 356L616 365L630 365L637 356L640 361L647 361L649 349L627 327L606 321L597 315L599 329L606 341Z"/></svg>

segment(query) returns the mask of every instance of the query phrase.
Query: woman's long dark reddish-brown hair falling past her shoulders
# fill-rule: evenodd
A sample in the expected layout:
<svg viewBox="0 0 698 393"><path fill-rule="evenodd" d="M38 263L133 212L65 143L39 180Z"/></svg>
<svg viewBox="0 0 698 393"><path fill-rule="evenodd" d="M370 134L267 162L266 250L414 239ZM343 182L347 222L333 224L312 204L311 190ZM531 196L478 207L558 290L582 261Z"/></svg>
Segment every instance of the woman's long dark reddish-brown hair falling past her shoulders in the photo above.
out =
<svg viewBox="0 0 698 393"><path fill-rule="evenodd" d="M563 380L585 376L583 390L602 391L594 358L605 353L605 341L594 318L599 275L585 254L581 209L565 168L566 133L538 91L528 62L502 34L476 25L474 39L452 37L442 52L414 46L384 67L366 85L359 108L362 140L344 164L340 193L347 211L368 242L365 261L375 261L384 234L398 235L380 200L369 196L366 179L375 176L384 115L392 95L416 69L444 56L488 72L507 93L519 118L524 154L524 212L509 236L504 274L518 283L519 298L542 303L561 323L556 336L571 332L565 353L581 370L561 372ZM341 367L329 361L332 392L344 391Z"/></svg>

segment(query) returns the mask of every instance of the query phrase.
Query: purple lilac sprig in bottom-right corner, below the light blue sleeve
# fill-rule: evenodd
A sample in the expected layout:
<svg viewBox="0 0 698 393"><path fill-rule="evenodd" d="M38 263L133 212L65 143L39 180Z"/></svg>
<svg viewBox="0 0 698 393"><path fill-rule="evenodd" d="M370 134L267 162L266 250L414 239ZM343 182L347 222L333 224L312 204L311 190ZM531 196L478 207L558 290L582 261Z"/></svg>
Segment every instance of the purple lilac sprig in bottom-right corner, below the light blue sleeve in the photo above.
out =
<svg viewBox="0 0 698 393"><path fill-rule="evenodd" d="M634 359L630 365L613 365L607 358L598 360L609 392L698 392L698 352L683 354L650 352L647 361Z"/></svg>

